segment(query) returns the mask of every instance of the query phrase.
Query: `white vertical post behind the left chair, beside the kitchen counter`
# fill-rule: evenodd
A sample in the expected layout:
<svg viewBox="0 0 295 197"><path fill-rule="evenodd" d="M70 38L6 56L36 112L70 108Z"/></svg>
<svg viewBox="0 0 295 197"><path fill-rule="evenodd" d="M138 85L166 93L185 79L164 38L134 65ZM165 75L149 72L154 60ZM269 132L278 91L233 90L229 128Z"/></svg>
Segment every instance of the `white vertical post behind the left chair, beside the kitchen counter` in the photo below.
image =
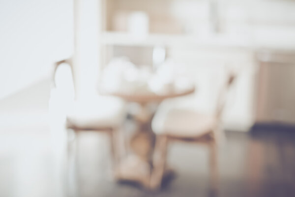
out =
<svg viewBox="0 0 295 197"><path fill-rule="evenodd" d="M97 92L100 66L101 0L74 0L76 99Z"/></svg>

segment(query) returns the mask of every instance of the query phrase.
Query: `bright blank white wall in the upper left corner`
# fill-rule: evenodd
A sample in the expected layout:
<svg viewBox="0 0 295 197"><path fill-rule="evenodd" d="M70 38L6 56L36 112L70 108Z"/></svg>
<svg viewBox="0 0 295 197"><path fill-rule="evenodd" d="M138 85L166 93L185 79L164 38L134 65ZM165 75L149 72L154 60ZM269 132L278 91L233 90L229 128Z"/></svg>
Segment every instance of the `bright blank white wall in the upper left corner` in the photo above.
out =
<svg viewBox="0 0 295 197"><path fill-rule="evenodd" d="M73 0L0 0L0 99L73 51Z"/></svg>

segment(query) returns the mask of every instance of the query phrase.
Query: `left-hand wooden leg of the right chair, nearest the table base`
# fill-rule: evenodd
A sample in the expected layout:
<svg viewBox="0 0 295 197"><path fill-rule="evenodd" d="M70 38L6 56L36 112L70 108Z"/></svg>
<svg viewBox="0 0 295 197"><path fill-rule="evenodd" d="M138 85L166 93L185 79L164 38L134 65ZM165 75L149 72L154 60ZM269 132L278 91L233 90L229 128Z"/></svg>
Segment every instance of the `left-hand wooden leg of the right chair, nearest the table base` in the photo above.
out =
<svg viewBox="0 0 295 197"><path fill-rule="evenodd" d="M156 190L161 186L167 161L168 136L157 136L154 150L153 169L149 188Z"/></svg>

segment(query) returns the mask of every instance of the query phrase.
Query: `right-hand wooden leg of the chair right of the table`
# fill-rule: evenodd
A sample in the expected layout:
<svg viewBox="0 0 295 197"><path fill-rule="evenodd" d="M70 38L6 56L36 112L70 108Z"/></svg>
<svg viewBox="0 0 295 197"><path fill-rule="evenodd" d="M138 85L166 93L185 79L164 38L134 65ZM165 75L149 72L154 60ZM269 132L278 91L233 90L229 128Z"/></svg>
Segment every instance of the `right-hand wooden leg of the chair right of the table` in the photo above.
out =
<svg viewBox="0 0 295 197"><path fill-rule="evenodd" d="M210 166L210 182L213 191L218 190L218 161L217 161L217 146L215 142L209 145L209 166Z"/></svg>

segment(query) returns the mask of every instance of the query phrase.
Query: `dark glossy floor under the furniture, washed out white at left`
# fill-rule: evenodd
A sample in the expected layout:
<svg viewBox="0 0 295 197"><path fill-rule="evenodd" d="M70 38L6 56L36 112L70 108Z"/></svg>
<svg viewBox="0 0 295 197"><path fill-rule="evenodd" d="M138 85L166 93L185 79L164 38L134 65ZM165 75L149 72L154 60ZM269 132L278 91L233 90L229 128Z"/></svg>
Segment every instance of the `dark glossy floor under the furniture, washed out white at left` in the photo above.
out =
<svg viewBox="0 0 295 197"><path fill-rule="evenodd" d="M47 121L49 83L0 100L0 197L57 197L56 163ZM131 128L132 122L126 123ZM255 127L227 131L220 147L219 197L295 197L295 130ZM55 146L55 144L53 143ZM170 147L169 164L177 175L151 193L110 175L107 137L82 134L78 141L77 187L80 197L211 197L207 150L193 144ZM75 185L72 183L72 185ZM70 192L71 194L75 192Z"/></svg>

